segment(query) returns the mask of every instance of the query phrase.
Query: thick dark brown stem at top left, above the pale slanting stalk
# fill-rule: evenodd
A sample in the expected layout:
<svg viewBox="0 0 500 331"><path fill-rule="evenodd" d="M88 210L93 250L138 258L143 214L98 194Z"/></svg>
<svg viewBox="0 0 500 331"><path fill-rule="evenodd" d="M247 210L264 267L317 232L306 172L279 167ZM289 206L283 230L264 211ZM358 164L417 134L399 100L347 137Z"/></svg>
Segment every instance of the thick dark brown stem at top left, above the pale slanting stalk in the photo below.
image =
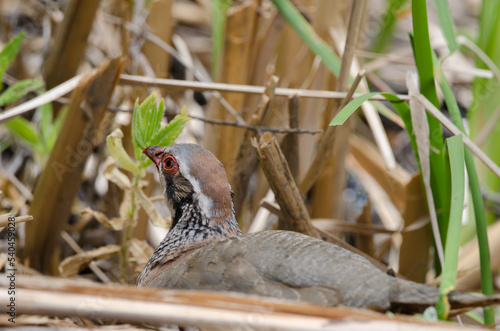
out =
<svg viewBox="0 0 500 331"><path fill-rule="evenodd" d="M45 63L45 82L53 88L73 77L85 55L100 0L71 0Z"/></svg>

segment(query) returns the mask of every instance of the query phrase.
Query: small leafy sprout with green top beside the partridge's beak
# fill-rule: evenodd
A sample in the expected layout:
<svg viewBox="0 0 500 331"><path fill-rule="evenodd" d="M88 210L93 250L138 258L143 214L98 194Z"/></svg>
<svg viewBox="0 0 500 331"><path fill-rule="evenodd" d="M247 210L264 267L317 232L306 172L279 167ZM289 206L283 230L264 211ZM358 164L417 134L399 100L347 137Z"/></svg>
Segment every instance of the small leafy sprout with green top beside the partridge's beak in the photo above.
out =
<svg viewBox="0 0 500 331"><path fill-rule="evenodd" d="M183 107L179 115L170 121L168 125L162 127L164 102L162 99L157 103L156 99L157 95L153 92L142 103L139 104L138 101L135 103L132 116L132 141L135 160L132 160L123 148L123 133L120 129L113 131L106 138L107 147L113 160L106 163L104 175L125 191L125 197L120 206L120 217L107 220L102 213L85 211L92 213L104 225L114 230L124 231L120 260L122 281L126 281L128 247L131 241L132 229L137 224L138 207L140 206L146 211L153 224L167 227L170 223L165 222L156 211L153 202L142 190L141 178L145 176L145 169L151 164L151 160L145 157L142 151L152 145L171 145L182 132L189 117L187 116L186 107ZM115 167L115 162L122 169L132 173L132 180Z"/></svg>

